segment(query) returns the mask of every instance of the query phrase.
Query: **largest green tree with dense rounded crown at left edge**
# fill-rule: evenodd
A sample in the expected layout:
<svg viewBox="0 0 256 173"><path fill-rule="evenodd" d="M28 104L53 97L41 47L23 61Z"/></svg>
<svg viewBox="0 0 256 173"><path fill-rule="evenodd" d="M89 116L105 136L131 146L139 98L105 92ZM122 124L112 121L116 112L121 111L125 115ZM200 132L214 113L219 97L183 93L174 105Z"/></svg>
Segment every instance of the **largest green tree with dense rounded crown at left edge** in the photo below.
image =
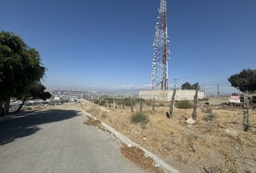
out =
<svg viewBox="0 0 256 173"><path fill-rule="evenodd" d="M29 48L12 32L0 32L0 114L4 102L11 97L22 98L45 71L35 48Z"/></svg>

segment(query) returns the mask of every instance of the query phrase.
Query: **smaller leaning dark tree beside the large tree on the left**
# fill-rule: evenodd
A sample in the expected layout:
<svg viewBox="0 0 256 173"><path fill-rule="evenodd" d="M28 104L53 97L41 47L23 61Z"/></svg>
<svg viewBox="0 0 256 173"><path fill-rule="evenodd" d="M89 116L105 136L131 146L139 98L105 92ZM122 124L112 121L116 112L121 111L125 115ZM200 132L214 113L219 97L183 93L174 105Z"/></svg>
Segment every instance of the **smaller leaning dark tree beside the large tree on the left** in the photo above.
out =
<svg viewBox="0 0 256 173"><path fill-rule="evenodd" d="M31 99L43 99L45 101L46 99L51 98L50 92L45 92L46 86L43 86L43 84L40 84L40 82L36 83L34 86L32 86L27 94L22 99L22 104L20 104L20 107L16 110L16 112L20 112L22 107Z"/></svg>

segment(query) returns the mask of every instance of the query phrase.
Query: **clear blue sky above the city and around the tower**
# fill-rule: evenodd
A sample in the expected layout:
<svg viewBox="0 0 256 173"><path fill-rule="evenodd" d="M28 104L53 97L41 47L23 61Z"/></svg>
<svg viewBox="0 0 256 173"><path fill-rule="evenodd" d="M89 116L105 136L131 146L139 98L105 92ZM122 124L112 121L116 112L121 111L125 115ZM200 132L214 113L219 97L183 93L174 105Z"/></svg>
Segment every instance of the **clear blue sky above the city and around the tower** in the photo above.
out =
<svg viewBox="0 0 256 173"><path fill-rule="evenodd" d="M167 0L169 80L222 84L256 67L255 0ZM1 0L0 30L23 37L56 88L145 87L151 84L160 0ZM218 81L218 82L217 82ZM215 87L213 86L215 89ZM216 89L215 89L216 90ZM214 91L215 91L214 90Z"/></svg>

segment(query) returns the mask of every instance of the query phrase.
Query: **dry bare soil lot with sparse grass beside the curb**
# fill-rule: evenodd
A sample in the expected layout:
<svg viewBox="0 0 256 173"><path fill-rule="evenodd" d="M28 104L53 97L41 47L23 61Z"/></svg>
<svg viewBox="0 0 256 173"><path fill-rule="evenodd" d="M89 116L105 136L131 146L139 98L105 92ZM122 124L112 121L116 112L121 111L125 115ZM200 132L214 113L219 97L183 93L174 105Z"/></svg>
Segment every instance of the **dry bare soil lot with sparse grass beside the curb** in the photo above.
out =
<svg viewBox="0 0 256 173"><path fill-rule="evenodd" d="M155 107L153 115L151 107L143 105L150 122L142 125L131 123L130 107L106 111L87 102L81 107L180 172L256 172L255 110L249 111L251 127L244 132L242 109L236 107L212 107L212 121L205 118L207 107L199 107L194 125L185 121L192 117L192 110L176 109L168 119L168 107ZM138 111L138 105L134 109Z"/></svg>

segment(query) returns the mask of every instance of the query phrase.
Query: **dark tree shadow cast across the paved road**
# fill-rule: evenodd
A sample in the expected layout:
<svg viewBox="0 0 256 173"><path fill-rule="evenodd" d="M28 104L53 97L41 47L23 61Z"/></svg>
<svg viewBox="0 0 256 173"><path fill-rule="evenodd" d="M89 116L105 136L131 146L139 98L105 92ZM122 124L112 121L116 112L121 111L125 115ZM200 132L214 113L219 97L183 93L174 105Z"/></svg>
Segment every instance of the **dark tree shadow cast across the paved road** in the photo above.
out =
<svg viewBox="0 0 256 173"><path fill-rule="evenodd" d="M0 146L36 133L40 130L38 125L67 120L78 115L79 111L75 110L45 110L0 120Z"/></svg>

